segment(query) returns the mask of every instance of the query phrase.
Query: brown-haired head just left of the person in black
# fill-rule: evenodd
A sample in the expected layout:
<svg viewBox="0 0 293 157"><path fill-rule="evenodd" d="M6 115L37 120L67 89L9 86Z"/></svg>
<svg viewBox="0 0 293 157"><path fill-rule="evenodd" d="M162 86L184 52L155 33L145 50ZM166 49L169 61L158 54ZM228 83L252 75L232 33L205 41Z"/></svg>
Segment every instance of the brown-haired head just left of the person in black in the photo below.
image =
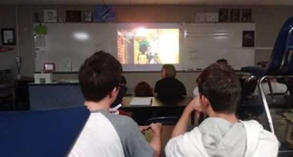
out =
<svg viewBox="0 0 293 157"><path fill-rule="evenodd" d="M154 96L152 93L152 88L145 81L139 82L135 86L134 93L135 93L135 96L140 96L140 97Z"/></svg>

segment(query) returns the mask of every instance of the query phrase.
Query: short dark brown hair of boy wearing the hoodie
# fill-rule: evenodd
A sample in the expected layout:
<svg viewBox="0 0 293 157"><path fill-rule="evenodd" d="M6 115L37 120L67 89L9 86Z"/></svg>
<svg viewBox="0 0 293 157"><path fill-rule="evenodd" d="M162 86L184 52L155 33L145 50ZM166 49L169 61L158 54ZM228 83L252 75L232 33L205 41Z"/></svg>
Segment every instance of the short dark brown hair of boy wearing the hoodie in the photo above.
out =
<svg viewBox="0 0 293 157"><path fill-rule="evenodd" d="M226 64L211 64L199 76L200 95L209 99L215 112L235 113L240 102L241 86L235 71Z"/></svg>

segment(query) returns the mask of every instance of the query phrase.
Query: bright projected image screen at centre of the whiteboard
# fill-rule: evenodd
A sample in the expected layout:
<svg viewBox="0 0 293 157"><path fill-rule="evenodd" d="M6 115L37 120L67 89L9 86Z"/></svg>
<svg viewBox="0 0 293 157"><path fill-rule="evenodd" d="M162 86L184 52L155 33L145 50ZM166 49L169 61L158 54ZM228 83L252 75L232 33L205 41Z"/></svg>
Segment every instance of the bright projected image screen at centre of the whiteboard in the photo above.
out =
<svg viewBox="0 0 293 157"><path fill-rule="evenodd" d="M125 70L160 70L180 65L178 24L127 23L117 25L117 59Z"/></svg>

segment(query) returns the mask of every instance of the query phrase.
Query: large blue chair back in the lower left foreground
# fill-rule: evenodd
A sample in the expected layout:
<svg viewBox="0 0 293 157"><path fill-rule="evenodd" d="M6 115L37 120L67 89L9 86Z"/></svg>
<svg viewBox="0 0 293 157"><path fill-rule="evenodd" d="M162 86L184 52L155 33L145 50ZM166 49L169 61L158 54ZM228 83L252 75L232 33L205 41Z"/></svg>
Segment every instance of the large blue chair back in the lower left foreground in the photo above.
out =
<svg viewBox="0 0 293 157"><path fill-rule="evenodd" d="M65 157L89 113L84 106L0 112L0 157Z"/></svg>

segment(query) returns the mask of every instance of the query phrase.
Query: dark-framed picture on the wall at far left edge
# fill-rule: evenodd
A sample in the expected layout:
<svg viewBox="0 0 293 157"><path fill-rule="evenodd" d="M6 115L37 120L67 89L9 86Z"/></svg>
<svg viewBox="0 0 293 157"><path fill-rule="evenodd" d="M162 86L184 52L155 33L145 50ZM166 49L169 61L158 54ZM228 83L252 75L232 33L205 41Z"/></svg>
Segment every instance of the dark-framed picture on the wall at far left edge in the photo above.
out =
<svg viewBox="0 0 293 157"><path fill-rule="evenodd" d="M16 45L15 28L1 28L1 44Z"/></svg>

